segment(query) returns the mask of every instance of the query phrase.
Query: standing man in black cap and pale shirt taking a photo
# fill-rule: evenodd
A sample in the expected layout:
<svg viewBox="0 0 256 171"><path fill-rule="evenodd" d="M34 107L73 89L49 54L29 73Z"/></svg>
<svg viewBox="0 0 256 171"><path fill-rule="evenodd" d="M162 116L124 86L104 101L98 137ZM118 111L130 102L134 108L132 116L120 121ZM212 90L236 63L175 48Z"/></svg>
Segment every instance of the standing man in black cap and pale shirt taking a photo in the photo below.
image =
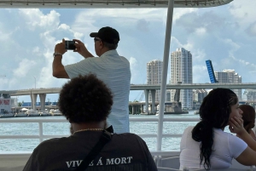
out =
<svg viewBox="0 0 256 171"><path fill-rule="evenodd" d="M114 132L129 133L129 94L131 82L131 69L129 60L120 56L116 50L119 44L119 32L112 27L102 27L97 32L91 32L94 38L96 55L90 54L84 43L73 39L73 52L79 53L84 60L67 66L62 65L62 57L67 52L66 41L55 45L52 74L57 78L73 78L79 75L96 74L108 85L113 92L113 106L108 116L108 126L112 125Z"/></svg>

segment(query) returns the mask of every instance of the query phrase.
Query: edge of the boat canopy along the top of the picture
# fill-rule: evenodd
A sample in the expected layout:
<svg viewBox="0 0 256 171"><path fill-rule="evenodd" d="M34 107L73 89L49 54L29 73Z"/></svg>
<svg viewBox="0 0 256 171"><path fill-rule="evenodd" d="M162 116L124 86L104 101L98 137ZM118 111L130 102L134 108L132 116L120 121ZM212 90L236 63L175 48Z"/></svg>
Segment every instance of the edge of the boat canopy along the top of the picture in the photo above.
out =
<svg viewBox="0 0 256 171"><path fill-rule="evenodd" d="M232 0L174 0L175 8L207 8ZM167 8L168 0L0 0L2 9Z"/></svg>

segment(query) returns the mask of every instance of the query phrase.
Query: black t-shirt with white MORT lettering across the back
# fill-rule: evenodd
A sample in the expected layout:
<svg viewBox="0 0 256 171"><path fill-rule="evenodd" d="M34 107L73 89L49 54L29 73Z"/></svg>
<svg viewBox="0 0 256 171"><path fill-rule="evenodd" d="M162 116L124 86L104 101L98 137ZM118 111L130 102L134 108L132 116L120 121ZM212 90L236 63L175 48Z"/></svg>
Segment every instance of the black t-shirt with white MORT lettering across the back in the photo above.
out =
<svg viewBox="0 0 256 171"><path fill-rule="evenodd" d="M32 152L23 171L73 171L100 139L100 131L82 131L45 140ZM146 143L136 134L113 134L86 171L156 171Z"/></svg>

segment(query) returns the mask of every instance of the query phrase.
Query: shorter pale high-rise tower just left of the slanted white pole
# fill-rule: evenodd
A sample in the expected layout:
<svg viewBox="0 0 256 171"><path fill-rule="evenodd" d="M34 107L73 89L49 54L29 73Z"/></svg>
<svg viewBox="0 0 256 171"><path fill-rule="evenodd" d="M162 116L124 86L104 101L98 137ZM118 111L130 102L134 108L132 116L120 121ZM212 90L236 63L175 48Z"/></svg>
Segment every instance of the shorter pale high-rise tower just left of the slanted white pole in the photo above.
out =
<svg viewBox="0 0 256 171"><path fill-rule="evenodd" d="M151 60L147 63L147 84L160 84L162 79L163 62L161 60ZM148 94L149 101L152 101L151 92ZM155 101L160 101L160 90L155 91Z"/></svg>

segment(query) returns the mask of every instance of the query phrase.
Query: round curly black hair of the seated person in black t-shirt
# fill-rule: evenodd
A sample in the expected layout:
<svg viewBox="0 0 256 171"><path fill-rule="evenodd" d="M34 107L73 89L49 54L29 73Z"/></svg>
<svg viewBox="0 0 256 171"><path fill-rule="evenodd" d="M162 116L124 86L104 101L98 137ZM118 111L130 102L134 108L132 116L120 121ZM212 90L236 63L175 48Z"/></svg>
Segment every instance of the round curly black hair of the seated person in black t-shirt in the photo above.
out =
<svg viewBox="0 0 256 171"><path fill-rule="evenodd" d="M113 105L111 90L95 75L71 79L59 97L62 114L70 123L97 123L105 120Z"/></svg>

